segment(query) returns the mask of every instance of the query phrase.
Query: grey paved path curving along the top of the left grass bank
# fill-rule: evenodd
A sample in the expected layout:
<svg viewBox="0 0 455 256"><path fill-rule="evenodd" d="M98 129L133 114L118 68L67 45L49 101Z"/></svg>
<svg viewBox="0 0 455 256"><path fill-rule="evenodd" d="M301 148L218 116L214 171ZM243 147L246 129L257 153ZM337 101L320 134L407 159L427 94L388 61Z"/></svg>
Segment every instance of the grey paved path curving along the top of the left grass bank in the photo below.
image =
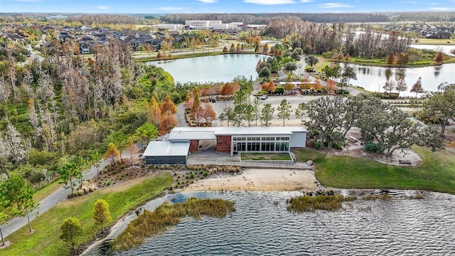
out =
<svg viewBox="0 0 455 256"><path fill-rule="evenodd" d="M136 146L140 149L141 144L136 144ZM123 157L127 157L127 153L124 152L122 154ZM110 160L104 160L100 162L100 171L107 166L107 164L110 163ZM90 179L93 178L94 176L97 175L97 168L96 166L90 167L90 169L87 169L86 171L83 172L83 179ZM68 198L68 195L71 193L71 188L58 188L56 191L51 193L49 196L44 198L42 201L40 201L40 206L38 209L34 210L32 213L29 213L30 221L34 220L36 218L36 213L43 214L46 211L48 211L50 208L53 208L57 203L60 203L61 201L65 200ZM16 230L19 228L22 228L24 225L28 225L28 220L27 217L16 217L12 218L9 220L8 224L1 225L1 232L4 235L4 238L6 238L8 235L11 235L11 233L14 233ZM33 228L33 225L32 225Z"/></svg>

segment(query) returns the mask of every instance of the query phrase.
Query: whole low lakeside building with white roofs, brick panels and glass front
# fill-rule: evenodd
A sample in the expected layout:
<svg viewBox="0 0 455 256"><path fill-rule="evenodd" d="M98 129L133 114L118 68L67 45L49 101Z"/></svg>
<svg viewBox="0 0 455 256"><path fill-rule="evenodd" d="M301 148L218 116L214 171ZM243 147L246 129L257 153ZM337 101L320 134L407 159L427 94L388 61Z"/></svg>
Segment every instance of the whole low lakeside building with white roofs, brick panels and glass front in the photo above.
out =
<svg viewBox="0 0 455 256"><path fill-rule="evenodd" d="M215 152L287 153L306 147L303 127L175 127L163 141L149 142L146 164L186 164L200 141L213 141ZM211 150L211 149L206 149Z"/></svg>

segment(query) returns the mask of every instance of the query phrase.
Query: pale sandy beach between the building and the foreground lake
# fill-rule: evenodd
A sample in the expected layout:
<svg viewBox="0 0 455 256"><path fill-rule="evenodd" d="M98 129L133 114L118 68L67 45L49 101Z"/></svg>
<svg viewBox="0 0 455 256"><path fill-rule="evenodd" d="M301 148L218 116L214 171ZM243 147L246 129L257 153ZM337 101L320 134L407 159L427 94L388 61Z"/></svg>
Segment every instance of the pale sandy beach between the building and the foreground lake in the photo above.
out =
<svg viewBox="0 0 455 256"><path fill-rule="evenodd" d="M242 174L210 176L183 191L316 191L310 170L246 169Z"/></svg>

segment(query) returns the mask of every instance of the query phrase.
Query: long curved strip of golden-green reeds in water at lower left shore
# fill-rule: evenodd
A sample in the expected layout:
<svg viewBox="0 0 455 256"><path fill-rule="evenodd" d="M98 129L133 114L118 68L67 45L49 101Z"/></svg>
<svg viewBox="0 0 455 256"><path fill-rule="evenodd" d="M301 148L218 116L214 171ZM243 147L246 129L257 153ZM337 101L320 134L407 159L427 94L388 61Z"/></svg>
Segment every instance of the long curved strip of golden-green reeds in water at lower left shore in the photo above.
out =
<svg viewBox="0 0 455 256"><path fill-rule="evenodd" d="M128 250L132 247L138 247L146 238L164 233L186 216L198 220L202 215L225 218L228 213L234 211L234 203L223 199L190 198L185 203L173 205L165 202L154 212L144 210L144 213L132 220L127 229L114 240L114 249Z"/></svg>

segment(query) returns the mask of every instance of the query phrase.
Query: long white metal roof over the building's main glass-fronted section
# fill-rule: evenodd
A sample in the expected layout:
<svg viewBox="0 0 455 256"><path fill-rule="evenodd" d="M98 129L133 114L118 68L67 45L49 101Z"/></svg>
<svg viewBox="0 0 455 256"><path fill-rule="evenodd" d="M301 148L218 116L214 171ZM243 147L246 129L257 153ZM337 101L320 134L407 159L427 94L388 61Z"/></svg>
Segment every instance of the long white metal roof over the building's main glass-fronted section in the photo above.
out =
<svg viewBox="0 0 455 256"><path fill-rule="evenodd" d="M175 127L169 134L171 141L216 139L216 135L287 135L307 132L303 127Z"/></svg>

